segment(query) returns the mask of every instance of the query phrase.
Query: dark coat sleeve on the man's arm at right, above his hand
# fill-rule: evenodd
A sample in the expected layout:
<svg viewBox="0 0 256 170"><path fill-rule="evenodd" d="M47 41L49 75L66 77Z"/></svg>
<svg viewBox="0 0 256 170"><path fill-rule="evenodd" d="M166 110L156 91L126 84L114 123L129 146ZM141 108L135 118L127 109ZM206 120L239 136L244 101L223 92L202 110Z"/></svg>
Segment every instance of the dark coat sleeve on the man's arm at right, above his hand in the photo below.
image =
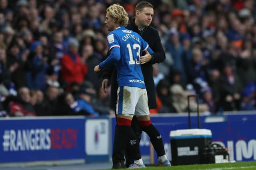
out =
<svg viewBox="0 0 256 170"><path fill-rule="evenodd" d="M161 43L161 39L159 33L156 29L154 29L154 45L150 46L150 48L154 51L152 54L151 64L162 63L165 60L165 52Z"/></svg>

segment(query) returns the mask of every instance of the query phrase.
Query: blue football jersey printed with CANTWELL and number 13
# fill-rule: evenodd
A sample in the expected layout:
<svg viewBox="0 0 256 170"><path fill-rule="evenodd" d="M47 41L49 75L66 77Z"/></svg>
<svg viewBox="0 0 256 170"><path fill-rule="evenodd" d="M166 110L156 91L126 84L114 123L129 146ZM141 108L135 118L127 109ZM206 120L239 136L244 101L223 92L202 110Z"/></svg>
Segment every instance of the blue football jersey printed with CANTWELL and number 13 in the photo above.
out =
<svg viewBox="0 0 256 170"><path fill-rule="evenodd" d="M145 88L140 56L148 48L148 43L124 26L111 31L107 39L109 50L114 47L120 49L120 60L115 64L118 86Z"/></svg>

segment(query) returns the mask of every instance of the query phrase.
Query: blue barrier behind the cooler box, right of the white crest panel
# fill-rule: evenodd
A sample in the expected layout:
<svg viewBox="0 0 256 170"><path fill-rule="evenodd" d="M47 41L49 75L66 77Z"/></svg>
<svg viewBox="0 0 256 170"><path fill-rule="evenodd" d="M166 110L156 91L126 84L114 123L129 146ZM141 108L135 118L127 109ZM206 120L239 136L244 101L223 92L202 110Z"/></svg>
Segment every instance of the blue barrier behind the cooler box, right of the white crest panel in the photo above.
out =
<svg viewBox="0 0 256 170"><path fill-rule="evenodd" d="M112 118L112 133L114 133L115 118ZM171 160L170 131L188 129L187 114L180 116L163 114L151 117L152 123L160 131L168 158ZM207 123L209 122L210 123ZM211 122L220 121L220 122ZM191 116L192 128L197 128L197 117ZM256 114L230 113L222 116L200 116L201 128L212 131L212 141L228 148L230 160L256 160ZM112 138L113 141L113 138ZM150 140L146 133L142 133L140 150L143 156L150 155ZM156 163L156 152L154 152Z"/></svg>

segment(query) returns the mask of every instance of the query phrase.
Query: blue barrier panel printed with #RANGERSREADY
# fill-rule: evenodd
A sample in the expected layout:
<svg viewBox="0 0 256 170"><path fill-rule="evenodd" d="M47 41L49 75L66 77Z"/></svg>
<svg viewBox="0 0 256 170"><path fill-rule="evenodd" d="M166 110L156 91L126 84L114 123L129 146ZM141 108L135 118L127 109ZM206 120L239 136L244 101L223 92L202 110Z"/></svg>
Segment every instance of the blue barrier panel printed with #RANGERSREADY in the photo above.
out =
<svg viewBox="0 0 256 170"><path fill-rule="evenodd" d="M84 118L0 120L0 163L84 158Z"/></svg>

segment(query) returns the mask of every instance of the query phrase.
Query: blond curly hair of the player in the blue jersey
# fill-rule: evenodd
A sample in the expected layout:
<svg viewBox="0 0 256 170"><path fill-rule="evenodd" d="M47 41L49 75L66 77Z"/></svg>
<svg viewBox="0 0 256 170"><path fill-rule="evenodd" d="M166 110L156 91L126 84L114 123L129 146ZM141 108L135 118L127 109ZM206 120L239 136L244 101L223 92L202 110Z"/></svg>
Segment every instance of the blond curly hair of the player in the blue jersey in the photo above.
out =
<svg viewBox="0 0 256 170"><path fill-rule="evenodd" d="M116 20L116 23L119 25L126 26L129 21L129 17L127 12L124 10L124 7L119 4L113 4L108 7L107 12L109 12L109 16Z"/></svg>

